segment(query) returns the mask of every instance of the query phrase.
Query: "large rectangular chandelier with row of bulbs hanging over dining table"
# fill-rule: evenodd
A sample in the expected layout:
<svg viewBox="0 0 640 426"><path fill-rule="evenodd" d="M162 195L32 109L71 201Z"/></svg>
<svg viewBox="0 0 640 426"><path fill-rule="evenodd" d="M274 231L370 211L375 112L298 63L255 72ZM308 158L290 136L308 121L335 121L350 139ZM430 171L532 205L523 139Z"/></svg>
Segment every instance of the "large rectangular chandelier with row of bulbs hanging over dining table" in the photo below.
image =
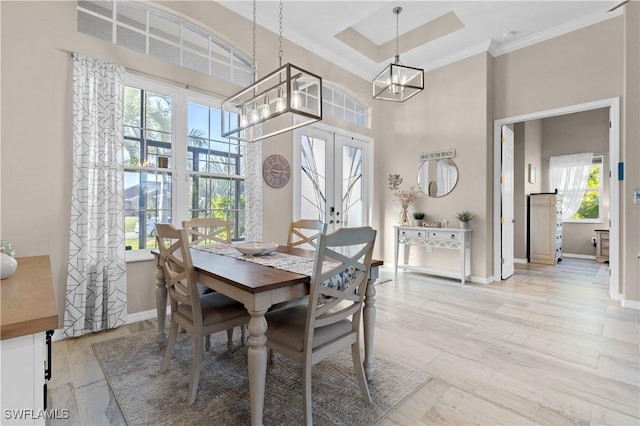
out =
<svg viewBox="0 0 640 426"><path fill-rule="evenodd" d="M258 80L254 0L254 83L222 102L222 136L256 142L322 120L322 78L289 63L282 65L282 56L280 0L279 68Z"/></svg>

